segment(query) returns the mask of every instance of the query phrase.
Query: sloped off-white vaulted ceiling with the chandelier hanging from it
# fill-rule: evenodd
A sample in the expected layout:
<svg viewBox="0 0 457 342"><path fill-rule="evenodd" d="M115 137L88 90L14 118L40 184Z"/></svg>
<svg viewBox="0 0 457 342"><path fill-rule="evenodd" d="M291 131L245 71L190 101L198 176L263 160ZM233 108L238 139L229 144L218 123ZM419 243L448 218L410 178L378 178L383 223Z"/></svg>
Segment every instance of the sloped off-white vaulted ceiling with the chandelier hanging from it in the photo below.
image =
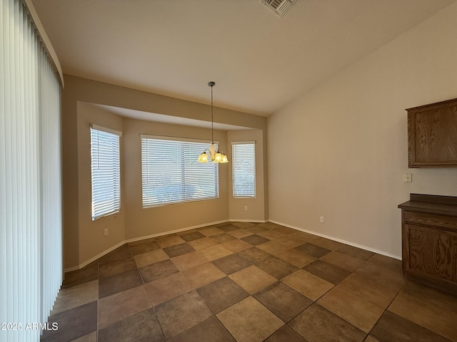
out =
<svg viewBox="0 0 457 342"><path fill-rule="evenodd" d="M456 0L34 0L64 73L257 115Z"/></svg>

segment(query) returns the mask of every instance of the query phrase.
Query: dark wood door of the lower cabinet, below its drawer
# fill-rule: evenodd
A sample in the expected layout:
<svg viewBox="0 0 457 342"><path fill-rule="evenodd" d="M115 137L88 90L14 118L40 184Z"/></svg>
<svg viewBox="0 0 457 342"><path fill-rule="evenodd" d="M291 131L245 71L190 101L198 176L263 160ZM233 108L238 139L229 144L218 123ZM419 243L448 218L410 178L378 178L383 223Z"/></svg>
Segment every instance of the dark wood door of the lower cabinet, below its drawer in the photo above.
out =
<svg viewBox="0 0 457 342"><path fill-rule="evenodd" d="M456 237L449 232L406 224L408 271L431 279L456 281Z"/></svg>

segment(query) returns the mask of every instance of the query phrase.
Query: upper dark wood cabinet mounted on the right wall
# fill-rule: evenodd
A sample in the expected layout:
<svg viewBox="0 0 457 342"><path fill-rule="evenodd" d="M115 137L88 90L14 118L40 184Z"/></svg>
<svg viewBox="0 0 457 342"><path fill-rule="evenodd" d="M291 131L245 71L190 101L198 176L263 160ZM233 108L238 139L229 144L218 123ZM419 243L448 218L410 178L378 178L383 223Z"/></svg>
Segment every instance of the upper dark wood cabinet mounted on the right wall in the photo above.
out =
<svg viewBox="0 0 457 342"><path fill-rule="evenodd" d="M407 111L408 167L457 167L457 98Z"/></svg>

